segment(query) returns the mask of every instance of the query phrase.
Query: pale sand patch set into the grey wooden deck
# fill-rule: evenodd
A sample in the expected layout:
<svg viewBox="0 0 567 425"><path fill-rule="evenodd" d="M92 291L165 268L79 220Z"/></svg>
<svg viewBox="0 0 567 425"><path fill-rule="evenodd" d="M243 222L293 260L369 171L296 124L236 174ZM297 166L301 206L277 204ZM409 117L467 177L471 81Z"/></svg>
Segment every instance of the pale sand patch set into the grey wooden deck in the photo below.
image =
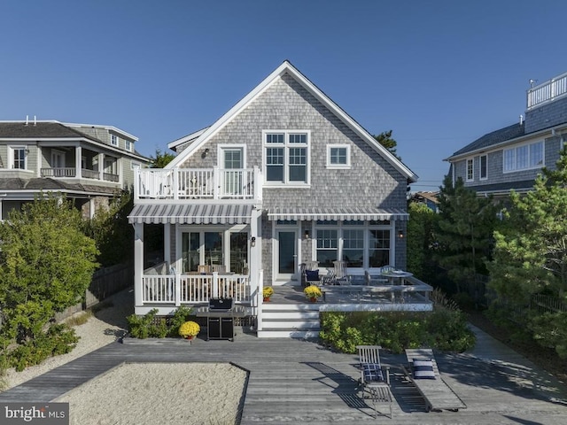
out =
<svg viewBox="0 0 567 425"><path fill-rule="evenodd" d="M123 363L69 391L71 425L237 422L246 372L229 364Z"/></svg>

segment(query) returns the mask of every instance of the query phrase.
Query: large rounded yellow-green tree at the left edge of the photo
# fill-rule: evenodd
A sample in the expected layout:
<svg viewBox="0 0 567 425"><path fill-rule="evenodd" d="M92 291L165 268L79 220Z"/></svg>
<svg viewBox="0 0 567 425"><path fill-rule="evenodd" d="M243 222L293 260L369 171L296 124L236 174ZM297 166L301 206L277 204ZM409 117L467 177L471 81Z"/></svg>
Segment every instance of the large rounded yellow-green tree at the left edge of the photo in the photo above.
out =
<svg viewBox="0 0 567 425"><path fill-rule="evenodd" d="M55 313L79 302L97 248L82 233L81 213L65 199L37 197L0 223L0 344L48 334Z"/></svg>

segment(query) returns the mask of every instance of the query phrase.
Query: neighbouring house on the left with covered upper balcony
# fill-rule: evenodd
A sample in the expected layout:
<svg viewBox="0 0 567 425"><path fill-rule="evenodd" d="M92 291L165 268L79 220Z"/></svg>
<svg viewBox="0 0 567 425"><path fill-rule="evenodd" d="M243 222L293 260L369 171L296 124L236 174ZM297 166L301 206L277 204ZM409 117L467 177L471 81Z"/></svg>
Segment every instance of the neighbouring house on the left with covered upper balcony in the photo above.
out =
<svg viewBox="0 0 567 425"><path fill-rule="evenodd" d="M1 219L42 192L63 194L92 217L117 190L132 188L136 168L149 165L136 141L112 126L0 121Z"/></svg>

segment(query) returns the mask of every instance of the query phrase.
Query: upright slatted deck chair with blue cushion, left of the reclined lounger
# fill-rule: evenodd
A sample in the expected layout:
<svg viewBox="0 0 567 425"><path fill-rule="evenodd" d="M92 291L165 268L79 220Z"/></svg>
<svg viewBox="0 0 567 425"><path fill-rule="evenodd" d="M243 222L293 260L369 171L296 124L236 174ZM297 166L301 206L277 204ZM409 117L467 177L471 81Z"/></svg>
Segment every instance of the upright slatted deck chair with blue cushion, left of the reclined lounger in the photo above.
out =
<svg viewBox="0 0 567 425"><path fill-rule="evenodd" d="M360 388L362 399L368 391L369 398L377 415L377 403L390 406L390 418L392 418L392 391L390 390L390 369L383 370L380 363L379 345L357 345L359 367L361 368Z"/></svg>

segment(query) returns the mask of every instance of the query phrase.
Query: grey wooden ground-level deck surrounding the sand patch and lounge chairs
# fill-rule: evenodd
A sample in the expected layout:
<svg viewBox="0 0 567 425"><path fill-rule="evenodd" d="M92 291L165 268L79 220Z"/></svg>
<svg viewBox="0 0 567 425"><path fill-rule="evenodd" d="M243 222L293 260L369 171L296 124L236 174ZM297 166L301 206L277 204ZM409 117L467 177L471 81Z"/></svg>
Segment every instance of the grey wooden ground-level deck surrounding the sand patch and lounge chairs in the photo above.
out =
<svg viewBox="0 0 567 425"><path fill-rule="evenodd" d="M47 402L123 361L232 362L250 371L240 421L246 425L376 421L401 425L567 423L567 396L548 376L514 352L502 347L493 349L485 334L480 340L491 347L437 355L447 383L468 406L458 413L425 413L423 398L403 377L400 367L405 356L383 352L384 366L392 368L394 419L385 415L375 419L371 402L357 394L355 355L330 352L313 341L259 339L239 328L235 342L198 338L190 345L179 340L109 344L1 393L0 402ZM386 413L385 407L381 413ZM211 423L215 423L214 418Z"/></svg>

